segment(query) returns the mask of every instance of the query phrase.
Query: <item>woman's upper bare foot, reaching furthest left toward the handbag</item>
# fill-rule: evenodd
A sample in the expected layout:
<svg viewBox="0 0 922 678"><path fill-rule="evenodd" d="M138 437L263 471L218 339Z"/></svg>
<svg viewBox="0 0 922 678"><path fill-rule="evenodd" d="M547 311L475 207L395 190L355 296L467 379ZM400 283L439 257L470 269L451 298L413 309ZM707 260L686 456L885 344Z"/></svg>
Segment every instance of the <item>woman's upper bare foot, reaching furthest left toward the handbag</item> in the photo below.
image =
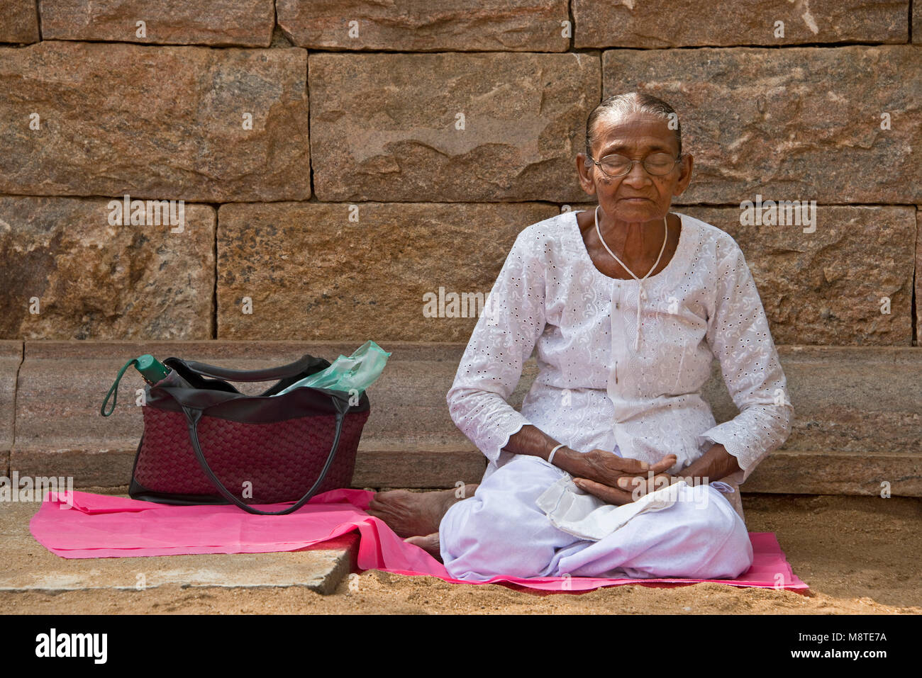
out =
<svg viewBox="0 0 922 678"><path fill-rule="evenodd" d="M398 536L428 536L439 532L439 523L452 504L473 497L476 489L477 485L465 485L464 492L459 493L462 497L455 495L454 487L438 492L375 492L367 510L369 515L384 520Z"/></svg>

